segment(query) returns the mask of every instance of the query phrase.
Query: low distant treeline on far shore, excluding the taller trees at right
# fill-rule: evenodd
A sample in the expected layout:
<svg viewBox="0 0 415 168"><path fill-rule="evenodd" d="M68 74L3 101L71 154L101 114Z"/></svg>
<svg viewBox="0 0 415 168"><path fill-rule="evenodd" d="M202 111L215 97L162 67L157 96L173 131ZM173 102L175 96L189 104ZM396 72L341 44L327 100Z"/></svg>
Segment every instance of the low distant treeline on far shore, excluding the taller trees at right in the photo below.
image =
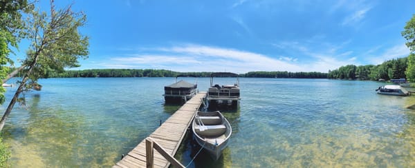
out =
<svg viewBox="0 0 415 168"><path fill-rule="evenodd" d="M136 69L97 69L97 70L68 70L62 73L50 72L48 78L78 78L78 77L175 77L179 74L191 74L199 77L210 77L212 72L174 72L170 70L136 70ZM322 72L248 72L239 74L249 78L327 78Z"/></svg>

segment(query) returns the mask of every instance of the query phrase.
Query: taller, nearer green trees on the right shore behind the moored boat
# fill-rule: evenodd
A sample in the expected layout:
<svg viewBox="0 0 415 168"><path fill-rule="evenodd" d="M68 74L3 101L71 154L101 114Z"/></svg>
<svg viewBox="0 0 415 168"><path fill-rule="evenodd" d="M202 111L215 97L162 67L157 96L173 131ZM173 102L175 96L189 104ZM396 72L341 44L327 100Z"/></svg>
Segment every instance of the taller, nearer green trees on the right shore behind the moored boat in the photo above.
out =
<svg viewBox="0 0 415 168"><path fill-rule="evenodd" d="M407 78L407 57L385 61L380 65L346 65L330 71L328 78L389 81L391 78Z"/></svg>

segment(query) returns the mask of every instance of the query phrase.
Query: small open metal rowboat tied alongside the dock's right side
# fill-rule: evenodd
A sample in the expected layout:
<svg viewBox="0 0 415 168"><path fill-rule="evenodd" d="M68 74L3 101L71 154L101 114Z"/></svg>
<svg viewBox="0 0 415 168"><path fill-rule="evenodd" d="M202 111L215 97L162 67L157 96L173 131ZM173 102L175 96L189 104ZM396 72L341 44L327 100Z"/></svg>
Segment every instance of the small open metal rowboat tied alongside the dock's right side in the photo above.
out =
<svg viewBox="0 0 415 168"><path fill-rule="evenodd" d="M196 142L218 160L223 149L228 146L232 127L221 112L197 112L192 123Z"/></svg>

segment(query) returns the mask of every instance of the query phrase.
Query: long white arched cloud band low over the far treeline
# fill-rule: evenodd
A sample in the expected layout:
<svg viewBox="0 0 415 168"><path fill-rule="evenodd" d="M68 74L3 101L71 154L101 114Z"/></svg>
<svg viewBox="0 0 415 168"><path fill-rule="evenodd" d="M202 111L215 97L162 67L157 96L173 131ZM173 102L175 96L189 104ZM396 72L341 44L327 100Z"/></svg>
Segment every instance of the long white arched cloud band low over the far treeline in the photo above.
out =
<svg viewBox="0 0 415 168"><path fill-rule="evenodd" d="M112 56L111 62L118 65L117 67L163 67L180 72L304 71L301 66L295 64L297 59L282 57L284 59L279 60L255 52L206 45L176 45L170 48L153 48L152 51L147 49L146 54L137 52Z"/></svg>

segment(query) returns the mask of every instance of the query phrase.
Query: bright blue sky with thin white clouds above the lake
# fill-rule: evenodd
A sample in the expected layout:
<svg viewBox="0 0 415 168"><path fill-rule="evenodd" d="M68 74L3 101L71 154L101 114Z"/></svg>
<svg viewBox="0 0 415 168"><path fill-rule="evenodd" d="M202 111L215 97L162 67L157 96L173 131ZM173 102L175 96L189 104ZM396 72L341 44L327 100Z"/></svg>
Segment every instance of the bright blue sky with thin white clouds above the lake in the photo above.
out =
<svg viewBox="0 0 415 168"><path fill-rule="evenodd" d="M400 33L415 14L413 0L55 3L73 4L88 19L80 32L90 38L89 58L71 70L328 72L377 65L409 54ZM37 7L48 11L49 1Z"/></svg>

